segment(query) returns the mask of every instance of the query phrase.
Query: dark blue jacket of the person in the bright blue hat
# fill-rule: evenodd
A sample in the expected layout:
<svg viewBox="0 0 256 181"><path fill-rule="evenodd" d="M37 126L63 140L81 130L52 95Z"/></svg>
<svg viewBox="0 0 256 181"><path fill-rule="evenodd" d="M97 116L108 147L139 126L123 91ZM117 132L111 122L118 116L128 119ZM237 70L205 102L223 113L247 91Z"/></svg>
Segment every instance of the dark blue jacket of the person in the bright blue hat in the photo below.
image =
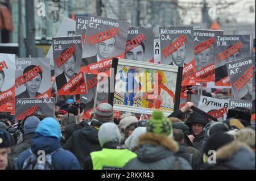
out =
<svg viewBox="0 0 256 181"><path fill-rule="evenodd" d="M60 142L53 137L44 137L40 134L35 134L31 140L31 150L37 154L39 150L46 151L46 154L52 153L60 149ZM23 151L16 160L16 168L22 169L24 161L30 156L30 151ZM70 151L60 149L52 155L52 166L55 170L80 170L79 162L75 155Z"/></svg>

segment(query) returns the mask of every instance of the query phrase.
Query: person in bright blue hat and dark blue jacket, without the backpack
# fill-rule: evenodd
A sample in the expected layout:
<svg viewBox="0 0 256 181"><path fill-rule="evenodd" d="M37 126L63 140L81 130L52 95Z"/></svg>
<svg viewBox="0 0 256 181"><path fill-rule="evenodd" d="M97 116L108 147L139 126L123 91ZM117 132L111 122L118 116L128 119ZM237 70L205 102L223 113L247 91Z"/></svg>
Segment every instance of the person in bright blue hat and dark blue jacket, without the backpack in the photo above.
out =
<svg viewBox="0 0 256 181"><path fill-rule="evenodd" d="M77 158L71 152L61 149L60 139L59 122L52 117L42 120L36 128L35 137L31 140L31 149L27 149L19 155L16 161L17 169L21 170L30 166L27 158L33 153L38 154L39 150L43 150L46 155L52 153L52 167L55 170L79 170Z"/></svg>

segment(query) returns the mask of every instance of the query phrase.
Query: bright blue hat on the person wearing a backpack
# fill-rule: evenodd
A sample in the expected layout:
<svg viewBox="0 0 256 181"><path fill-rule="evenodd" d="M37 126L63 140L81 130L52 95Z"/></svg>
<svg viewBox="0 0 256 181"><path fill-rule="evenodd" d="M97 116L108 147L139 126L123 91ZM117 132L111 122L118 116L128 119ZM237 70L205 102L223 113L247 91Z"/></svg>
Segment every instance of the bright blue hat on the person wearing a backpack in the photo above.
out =
<svg viewBox="0 0 256 181"><path fill-rule="evenodd" d="M43 119L36 129L36 133L45 137L56 137L59 141L61 139L60 124L53 117Z"/></svg>

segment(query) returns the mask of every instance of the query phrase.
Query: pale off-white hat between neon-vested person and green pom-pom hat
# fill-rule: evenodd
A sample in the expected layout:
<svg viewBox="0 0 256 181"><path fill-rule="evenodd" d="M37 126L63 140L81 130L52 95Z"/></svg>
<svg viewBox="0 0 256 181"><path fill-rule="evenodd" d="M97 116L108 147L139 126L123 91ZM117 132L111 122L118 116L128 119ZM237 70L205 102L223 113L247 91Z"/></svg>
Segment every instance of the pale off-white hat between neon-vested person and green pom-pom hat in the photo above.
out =
<svg viewBox="0 0 256 181"><path fill-rule="evenodd" d="M146 133L146 131L147 131L146 127L138 127L136 129L134 129L133 133L131 133L131 136L129 136L125 140L126 148L131 151L135 151L135 149L137 147L137 140L138 140L139 136Z"/></svg>

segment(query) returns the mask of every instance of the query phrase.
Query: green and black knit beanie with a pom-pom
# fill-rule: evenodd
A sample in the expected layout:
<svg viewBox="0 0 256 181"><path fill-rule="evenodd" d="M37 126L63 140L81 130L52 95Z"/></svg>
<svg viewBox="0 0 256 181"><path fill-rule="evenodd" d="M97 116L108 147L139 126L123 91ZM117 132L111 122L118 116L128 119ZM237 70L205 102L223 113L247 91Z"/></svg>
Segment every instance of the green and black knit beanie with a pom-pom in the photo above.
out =
<svg viewBox="0 0 256 181"><path fill-rule="evenodd" d="M172 125L167 117L164 117L162 111L154 111L147 124L147 132L161 134L163 136L172 136Z"/></svg>

